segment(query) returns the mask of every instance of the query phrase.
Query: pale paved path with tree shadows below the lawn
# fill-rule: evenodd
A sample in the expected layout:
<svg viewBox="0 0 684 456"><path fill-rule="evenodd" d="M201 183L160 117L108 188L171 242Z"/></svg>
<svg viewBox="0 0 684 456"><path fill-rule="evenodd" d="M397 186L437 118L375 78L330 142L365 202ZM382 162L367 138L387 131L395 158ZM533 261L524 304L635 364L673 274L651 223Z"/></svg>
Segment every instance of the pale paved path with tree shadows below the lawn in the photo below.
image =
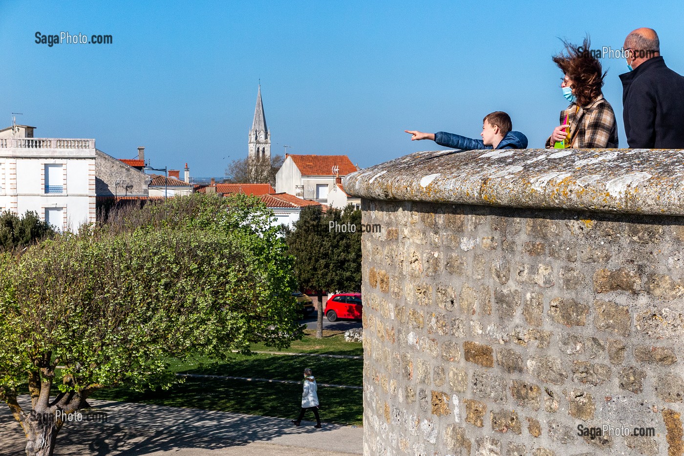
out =
<svg viewBox="0 0 684 456"><path fill-rule="evenodd" d="M55 456L349 456L363 454L363 429L229 412L89 401L107 423L66 423ZM293 414L298 410L293 410ZM0 407L0 455L21 456L25 437ZM68 448L69 447L69 448Z"/></svg>

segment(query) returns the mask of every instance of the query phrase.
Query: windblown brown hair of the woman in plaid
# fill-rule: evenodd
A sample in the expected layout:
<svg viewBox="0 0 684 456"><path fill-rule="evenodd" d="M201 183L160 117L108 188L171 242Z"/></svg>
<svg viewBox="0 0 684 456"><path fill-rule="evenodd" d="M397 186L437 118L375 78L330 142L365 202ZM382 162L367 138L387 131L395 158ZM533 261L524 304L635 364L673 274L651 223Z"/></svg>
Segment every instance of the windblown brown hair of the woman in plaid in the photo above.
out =
<svg viewBox="0 0 684 456"><path fill-rule="evenodd" d="M573 93L577 98L577 104L586 106L603 94L603 78L606 72L601 68L601 62L590 51L590 40L584 38L581 46L565 44L565 53L553 56L553 62L573 82ZM567 55L566 55L567 54Z"/></svg>

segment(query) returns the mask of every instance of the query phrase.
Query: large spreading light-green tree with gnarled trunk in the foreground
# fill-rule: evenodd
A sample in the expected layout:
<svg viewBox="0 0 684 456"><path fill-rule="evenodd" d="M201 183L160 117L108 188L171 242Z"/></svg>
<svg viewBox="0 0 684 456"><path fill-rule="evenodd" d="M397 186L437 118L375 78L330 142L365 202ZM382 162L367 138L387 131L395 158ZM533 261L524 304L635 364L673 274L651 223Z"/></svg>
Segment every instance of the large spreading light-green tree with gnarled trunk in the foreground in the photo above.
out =
<svg viewBox="0 0 684 456"><path fill-rule="evenodd" d="M256 198L197 194L0 254L0 399L27 455L51 455L96 390L168 388L172 358L300 338L292 258L269 217Z"/></svg>

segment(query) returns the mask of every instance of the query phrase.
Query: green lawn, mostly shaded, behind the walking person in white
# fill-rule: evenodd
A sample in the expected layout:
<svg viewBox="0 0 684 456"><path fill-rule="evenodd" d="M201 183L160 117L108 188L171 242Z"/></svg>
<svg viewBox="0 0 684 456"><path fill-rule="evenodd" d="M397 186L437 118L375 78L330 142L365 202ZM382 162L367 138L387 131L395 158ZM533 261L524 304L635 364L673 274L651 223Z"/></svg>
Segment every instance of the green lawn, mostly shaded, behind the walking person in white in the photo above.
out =
<svg viewBox="0 0 684 456"><path fill-rule="evenodd" d="M324 332L323 339L312 336L311 330L303 340L282 351L294 353L329 353L361 355L360 343L345 342L343 334ZM252 350L275 351L272 347L253 345ZM304 368L311 368L319 384L363 385L363 360L324 358L317 356L287 356L254 353L244 356L232 353L224 362L174 364L179 373L228 375L267 379L302 379ZM295 418L301 405L301 384L274 384L261 381L186 379L170 390L134 392L125 388L98 391L94 399L131 401L172 407L193 407L244 414ZM362 390L319 386L321 419L341 425L361 425L363 416ZM313 416L308 417L313 419Z"/></svg>

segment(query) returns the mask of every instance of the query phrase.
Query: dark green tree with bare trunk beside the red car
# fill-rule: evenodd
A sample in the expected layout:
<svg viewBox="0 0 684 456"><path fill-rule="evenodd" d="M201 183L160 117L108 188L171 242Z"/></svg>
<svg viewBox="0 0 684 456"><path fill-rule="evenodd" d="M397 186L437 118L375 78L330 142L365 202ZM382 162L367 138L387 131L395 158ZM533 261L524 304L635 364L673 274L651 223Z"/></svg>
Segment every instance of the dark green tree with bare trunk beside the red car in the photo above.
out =
<svg viewBox="0 0 684 456"><path fill-rule="evenodd" d="M323 291L360 291L360 222L361 213L351 204L343 211L329 208L325 214L320 206L306 206L294 229L285 232L300 288L315 291L318 298L318 338L323 337ZM343 224L344 231L334 228Z"/></svg>

